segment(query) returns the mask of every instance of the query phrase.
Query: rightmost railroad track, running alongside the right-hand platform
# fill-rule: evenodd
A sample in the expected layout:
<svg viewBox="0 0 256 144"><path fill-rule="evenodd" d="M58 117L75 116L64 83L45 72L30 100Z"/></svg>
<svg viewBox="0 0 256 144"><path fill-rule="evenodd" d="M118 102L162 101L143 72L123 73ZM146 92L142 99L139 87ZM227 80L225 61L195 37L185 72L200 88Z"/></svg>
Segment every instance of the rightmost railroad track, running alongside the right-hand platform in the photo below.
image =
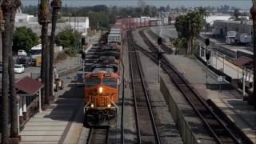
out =
<svg viewBox="0 0 256 144"><path fill-rule="evenodd" d="M142 51L143 54L146 54L151 58L155 63L158 64L158 50L154 47L154 44L150 42L146 35L142 32L143 40L150 47L150 50L147 51L142 47L135 45L136 48ZM185 96L186 100L194 108L195 112L201 118L202 122L206 126L206 129L209 131L212 138L214 138L217 143L253 143L245 134L241 134L238 130L235 130L232 124L225 119L221 119L217 114L214 113L214 110L198 95L198 93L186 82L186 79L182 77L181 74L170 65L170 62L165 56L161 59L162 68L166 73L172 78L174 84Z"/></svg>

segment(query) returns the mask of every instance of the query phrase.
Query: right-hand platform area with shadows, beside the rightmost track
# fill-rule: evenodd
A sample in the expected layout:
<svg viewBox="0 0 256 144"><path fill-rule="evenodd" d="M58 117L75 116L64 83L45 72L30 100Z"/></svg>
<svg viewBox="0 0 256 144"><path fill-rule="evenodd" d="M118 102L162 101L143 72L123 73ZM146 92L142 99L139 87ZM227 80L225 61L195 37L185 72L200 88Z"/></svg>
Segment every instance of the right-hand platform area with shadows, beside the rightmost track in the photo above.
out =
<svg viewBox="0 0 256 144"><path fill-rule="evenodd" d="M234 122L252 142L256 142L256 111L243 101L242 94L229 84L218 82L218 75L209 72L206 85L206 66L198 60L181 55L166 54L166 58L205 100L210 99ZM221 87L220 87L221 86Z"/></svg>

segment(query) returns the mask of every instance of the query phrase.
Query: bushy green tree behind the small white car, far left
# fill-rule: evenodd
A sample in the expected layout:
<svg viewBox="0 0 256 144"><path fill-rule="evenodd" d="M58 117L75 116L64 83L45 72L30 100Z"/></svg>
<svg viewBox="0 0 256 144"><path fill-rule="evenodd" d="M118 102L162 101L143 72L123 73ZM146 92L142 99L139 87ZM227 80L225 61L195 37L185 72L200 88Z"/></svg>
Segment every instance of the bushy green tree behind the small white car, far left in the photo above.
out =
<svg viewBox="0 0 256 144"><path fill-rule="evenodd" d="M14 31L13 50L30 51L31 47L38 45L38 36L30 28L18 27Z"/></svg>

